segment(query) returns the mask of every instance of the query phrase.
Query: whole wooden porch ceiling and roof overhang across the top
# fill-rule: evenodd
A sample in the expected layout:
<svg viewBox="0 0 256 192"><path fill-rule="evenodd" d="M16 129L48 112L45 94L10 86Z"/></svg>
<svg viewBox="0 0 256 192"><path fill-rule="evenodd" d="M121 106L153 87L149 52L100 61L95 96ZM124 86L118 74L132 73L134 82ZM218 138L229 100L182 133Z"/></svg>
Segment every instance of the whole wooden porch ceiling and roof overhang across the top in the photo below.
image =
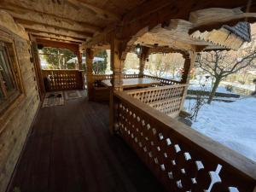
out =
<svg viewBox="0 0 256 192"><path fill-rule="evenodd" d="M35 38L106 49L114 37L125 52L237 49L243 41L223 26L256 20L256 3L244 0L2 0L0 9Z"/></svg>

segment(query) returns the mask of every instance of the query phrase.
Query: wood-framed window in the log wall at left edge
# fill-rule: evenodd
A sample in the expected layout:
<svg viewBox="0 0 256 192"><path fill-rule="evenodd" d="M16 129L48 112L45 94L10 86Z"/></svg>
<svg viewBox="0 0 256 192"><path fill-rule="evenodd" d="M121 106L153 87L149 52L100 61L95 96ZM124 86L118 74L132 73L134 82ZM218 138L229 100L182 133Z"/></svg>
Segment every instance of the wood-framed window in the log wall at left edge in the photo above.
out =
<svg viewBox="0 0 256 192"><path fill-rule="evenodd" d="M19 96L8 44L0 42L0 113Z"/></svg>

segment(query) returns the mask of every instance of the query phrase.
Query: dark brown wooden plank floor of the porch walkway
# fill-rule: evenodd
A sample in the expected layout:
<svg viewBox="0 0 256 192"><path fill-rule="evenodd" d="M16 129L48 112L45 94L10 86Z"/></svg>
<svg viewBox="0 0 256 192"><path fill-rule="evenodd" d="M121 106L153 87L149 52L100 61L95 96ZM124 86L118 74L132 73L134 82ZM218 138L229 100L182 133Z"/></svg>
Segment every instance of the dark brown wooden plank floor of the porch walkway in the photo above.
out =
<svg viewBox="0 0 256 192"><path fill-rule="evenodd" d="M86 98L41 108L9 191L164 191L121 138L108 132L108 104Z"/></svg>

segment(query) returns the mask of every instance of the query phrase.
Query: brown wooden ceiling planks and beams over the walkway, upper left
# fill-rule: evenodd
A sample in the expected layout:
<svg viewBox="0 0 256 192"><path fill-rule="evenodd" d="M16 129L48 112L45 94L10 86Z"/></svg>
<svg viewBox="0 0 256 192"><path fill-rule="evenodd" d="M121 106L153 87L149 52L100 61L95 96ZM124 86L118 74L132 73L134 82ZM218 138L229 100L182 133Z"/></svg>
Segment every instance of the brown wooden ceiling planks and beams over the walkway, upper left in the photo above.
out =
<svg viewBox="0 0 256 192"><path fill-rule="evenodd" d="M88 40L106 26L119 22L125 13L143 1L2 0L0 9L12 15L27 31L48 33L47 38L60 35L61 39L67 36ZM125 8L121 9L121 5Z"/></svg>

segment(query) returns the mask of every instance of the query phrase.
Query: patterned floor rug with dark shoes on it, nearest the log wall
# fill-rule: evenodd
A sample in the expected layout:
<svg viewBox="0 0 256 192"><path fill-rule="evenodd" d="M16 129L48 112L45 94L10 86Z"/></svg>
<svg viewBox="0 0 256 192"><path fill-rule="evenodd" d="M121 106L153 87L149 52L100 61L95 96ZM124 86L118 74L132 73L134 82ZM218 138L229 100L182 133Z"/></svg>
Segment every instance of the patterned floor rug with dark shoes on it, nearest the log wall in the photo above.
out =
<svg viewBox="0 0 256 192"><path fill-rule="evenodd" d="M64 96L62 91L49 92L45 94L43 108L64 105Z"/></svg>

